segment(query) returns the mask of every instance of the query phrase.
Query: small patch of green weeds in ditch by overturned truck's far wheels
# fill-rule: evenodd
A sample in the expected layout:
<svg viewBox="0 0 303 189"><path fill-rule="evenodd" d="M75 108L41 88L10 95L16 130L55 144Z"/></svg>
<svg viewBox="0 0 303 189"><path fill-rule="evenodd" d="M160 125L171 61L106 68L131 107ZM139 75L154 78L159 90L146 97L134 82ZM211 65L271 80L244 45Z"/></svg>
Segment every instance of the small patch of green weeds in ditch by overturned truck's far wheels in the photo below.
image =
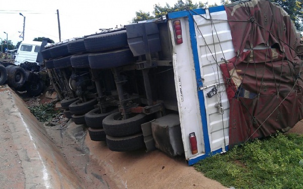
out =
<svg viewBox="0 0 303 189"><path fill-rule="evenodd" d="M55 109L53 103L28 106L28 109L41 122L51 121L60 113L60 110Z"/></svg>

